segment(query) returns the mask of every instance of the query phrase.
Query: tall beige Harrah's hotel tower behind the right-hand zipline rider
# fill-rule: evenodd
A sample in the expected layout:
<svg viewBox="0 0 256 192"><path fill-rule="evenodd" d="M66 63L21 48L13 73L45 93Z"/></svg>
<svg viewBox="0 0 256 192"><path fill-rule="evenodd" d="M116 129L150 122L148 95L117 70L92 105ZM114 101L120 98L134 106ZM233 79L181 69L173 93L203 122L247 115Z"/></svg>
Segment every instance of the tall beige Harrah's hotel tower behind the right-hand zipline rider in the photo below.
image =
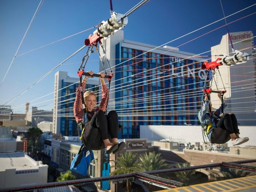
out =
<svg viewBox="0 0 256 192"><path fill-rule="evenodd" d="M252 54L253 34L252 31L242 31L230 33L235 50ZM214 55L230 55L232 56L232 48L228 34L222 36L220 44L211 48L212 61L218 56ZM255 56L250 56L253 58ZM240 125L256 125L256 65L255 59L248 60L246 63L233 66L220 66L220 74L227 92L224 98L228 103L228 112L236 114L238 124ZM215 73L217 87L224 90L219 72ZM212 83L212 89L216 90L215 83ZM221 101L217 94L211 94L211 100L214 108L219 108Z"/></svg>

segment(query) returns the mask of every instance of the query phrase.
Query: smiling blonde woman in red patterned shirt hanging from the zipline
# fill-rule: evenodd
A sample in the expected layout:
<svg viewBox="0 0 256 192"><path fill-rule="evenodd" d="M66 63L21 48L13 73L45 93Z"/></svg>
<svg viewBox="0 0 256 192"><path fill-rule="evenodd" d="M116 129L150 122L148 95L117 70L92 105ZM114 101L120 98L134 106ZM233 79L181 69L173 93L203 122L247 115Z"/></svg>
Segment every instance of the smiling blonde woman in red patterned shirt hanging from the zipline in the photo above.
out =
<svg viewBox="0 0 256 192"><path fill-rule="evenodd" d="M82 89L84 91L85 84L88 78L91 78L93 75L92 71L87 71L91 76L84 76L82 81ZM76 123L81 126L84 118L85 138L92 137L91 130L94 128L98 129L99 135L96 136L96 139L91 141L92 149L100 149L102 146L105 146L107 149L107 154L117 153L118 151L124 148L125 143L119 143L117 140L119 124L118 116L116 111L112 110L105 115L107 103L108 103L108 88L104 80L105 74L100 73L100 83L101 83L101 92L102 98L100 101L99 107L96 108L96 94L92 91L86 91L84 93L84 101L86 105L86 112L82 108L82 97L81 97L81 87L79 86L76 90L76 99L74 103L74 116ZM100 147L101 146L101 147Z"/></svg>

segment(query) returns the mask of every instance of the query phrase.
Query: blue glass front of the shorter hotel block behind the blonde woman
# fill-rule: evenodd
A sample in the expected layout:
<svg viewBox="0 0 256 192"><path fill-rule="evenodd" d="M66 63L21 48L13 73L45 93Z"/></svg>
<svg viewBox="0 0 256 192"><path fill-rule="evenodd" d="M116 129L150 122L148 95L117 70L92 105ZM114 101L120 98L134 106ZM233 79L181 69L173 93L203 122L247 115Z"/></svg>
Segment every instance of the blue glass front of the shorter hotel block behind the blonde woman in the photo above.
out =
<svg viewBox="0 0 256 192"><path fill-rule="evenodd" d="M64 82L62 80L62 87L64 88L70 84L69 82ZM60 133L63 136L78 136L77 133L77 124L75 121L75 117L73 116L73 105L75 100L66 101L68 99L74 98L76 96L76 88L79 86L79 84L74 84L71 86L68 86L67 88L64 88L61 90L61 98L60 101L65 101L61 105L61 112L60 112ZM86 84L85 90L91 88L90 91L98 91L99 88L92 84ZM71 94L73 93L73 94ZM98 99L98 98L97 98Z"/></svg>

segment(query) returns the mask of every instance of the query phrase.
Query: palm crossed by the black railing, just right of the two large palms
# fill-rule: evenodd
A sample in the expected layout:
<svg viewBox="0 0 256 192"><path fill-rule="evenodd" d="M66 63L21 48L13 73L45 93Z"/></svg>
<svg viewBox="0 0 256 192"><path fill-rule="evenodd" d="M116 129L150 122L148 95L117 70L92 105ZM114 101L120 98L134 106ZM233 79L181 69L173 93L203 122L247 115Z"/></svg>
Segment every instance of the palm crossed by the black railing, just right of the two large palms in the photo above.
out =
<svg viewBox="0 0 256 192"><path fill-rule="evenodd" d="M189 166L190 166L190 163L184 163L184 164L178 164L176 167L184 168ZM195 175L195 173L196 173L195 170L177 171L175 172L175 176L176 178L178 178L180 182L188 185L189 180L192 179L192 176Z"/></svg>

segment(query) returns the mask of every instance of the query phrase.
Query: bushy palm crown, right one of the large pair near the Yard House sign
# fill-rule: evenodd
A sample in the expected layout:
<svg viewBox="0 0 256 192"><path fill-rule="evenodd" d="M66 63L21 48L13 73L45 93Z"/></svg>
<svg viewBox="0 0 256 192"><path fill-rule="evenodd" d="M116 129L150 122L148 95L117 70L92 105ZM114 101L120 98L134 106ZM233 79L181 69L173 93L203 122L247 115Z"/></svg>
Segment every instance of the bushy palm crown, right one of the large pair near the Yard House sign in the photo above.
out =
<svg viewBox="0 0 256 192"><path fill-rule="evenodd" d="M165 159L162 159L161 154L156 154L155 151L149 152L149 154L144 153L140 157L139 166L141 171L152 171L158 169L168 168L168 164L165 164Z"/></svg>

